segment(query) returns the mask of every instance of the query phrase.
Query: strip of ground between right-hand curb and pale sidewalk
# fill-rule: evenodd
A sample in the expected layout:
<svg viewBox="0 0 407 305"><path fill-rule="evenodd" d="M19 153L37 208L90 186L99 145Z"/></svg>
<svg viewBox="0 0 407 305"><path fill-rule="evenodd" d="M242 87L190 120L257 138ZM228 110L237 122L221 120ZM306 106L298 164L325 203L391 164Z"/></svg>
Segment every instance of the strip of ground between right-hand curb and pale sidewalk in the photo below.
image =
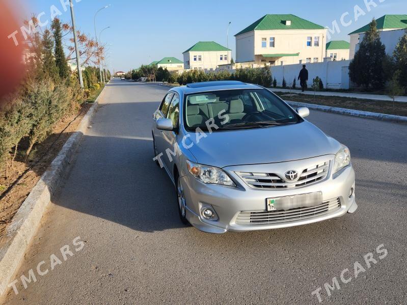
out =
<svg viewBox="0 0 407 305"><path fill-rule="evenodd" d="M393 103L391 101L377 101L359 98L349 98L340 96L321 96L321 95L315 95L314 99L313 95L288 94L283 92L275 93L282 99L287 101L303 102L309 104L407 117L407 103L401 102Z"/></svg>

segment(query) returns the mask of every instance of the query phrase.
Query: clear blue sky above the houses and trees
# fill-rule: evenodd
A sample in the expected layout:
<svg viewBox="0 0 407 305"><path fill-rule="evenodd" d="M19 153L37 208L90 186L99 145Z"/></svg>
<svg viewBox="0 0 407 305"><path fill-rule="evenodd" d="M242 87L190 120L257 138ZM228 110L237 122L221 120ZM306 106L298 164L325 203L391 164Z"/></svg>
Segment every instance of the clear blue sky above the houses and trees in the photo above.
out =
<svg viewBox="0 0 407 305"><path fill-rule="evenodd" d="M67 1L67 0L65 0ZM197 41L216 41L226 46L226 29L232 22L229 31L229 47L235 52L234 34L244 29L265 14L294 14L323 26L332 27L338 21L341 33L332 36L332 40L349 40L348 33L359 29L375 17L384 14L407 14L405 0L373 1L377 7L366 9L365 0L287 0L287 1L139 1L139 0L81 0L75 3L76 24L80 31L94 36L93 17L95 12L108 4L112 7L103 9L97 16L98 32L103 32L101 40L110 46L107 64L111 71L128 71L141 64L164 57L176 57L180 60L182 52ZM381 0L383 1L383 0ZM50 16L50 7L55 5L62 11L60 18L70 21L69 10L64 12L60 0L21 0L27 3L26 14L39 14L44 11ZM354 8L358 5L364 15L355 20ZM340 18L345 12L344 27Z"/></svg>

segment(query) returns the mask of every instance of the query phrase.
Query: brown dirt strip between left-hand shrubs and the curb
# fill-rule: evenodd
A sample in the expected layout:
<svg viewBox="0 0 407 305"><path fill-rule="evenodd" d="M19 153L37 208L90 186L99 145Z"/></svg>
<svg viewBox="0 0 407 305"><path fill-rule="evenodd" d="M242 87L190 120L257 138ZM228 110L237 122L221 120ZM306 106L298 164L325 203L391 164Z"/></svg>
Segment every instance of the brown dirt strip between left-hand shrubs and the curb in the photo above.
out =
<svg viewBox="0 0 407 305"><path fill-rule="evenodd" d="M76 130L80 121L88 112L88 109L92 104L86 103L79 109L80 115L75 119L78 114L72 115L61 121L54 129L51 135L49 135L46 140L34 147L28 160L25 162L25 151L28 143L20 144L20 148L17 152L13 168L8 170L8 177L6 178L6 172L0 173L0 194L2 194L6 189L13 184L18 177L27 169L29 169L33 164L35 164L41 156L45 156L36 164L29 172L27 172L22 179L11 189L11 191L0 200L0 237L5 234L6 226L11 222L14 214L17 212L18 208L24 202L25 198L30 194L31 189L36 185L38 180L40 180L41 175L46 171L48 165L57 156L62 146L68 140L69 136ZM75 120L74 120L75 119ZM60 135L62 130L74 120L69 127ZM56 141L56 139L58 140ZM56 142L55 142L56 141ZM51 147L52 143L53 146ZM50 148L51 147L51 148ZM49 150L49 151L48 151Z"/></svg>

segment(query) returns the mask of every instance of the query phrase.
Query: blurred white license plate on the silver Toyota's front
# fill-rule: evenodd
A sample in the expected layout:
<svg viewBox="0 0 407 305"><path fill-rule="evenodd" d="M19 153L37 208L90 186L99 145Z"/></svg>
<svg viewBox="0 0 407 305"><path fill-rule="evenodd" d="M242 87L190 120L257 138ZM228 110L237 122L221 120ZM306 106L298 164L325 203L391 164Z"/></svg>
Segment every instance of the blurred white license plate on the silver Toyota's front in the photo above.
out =
<svg viewBox="0 0 407 305"><path fill-rule="evenodd" d="M296 208L315 207L321 204L321 191L266 199L267 211L284 211Z"/></svg>

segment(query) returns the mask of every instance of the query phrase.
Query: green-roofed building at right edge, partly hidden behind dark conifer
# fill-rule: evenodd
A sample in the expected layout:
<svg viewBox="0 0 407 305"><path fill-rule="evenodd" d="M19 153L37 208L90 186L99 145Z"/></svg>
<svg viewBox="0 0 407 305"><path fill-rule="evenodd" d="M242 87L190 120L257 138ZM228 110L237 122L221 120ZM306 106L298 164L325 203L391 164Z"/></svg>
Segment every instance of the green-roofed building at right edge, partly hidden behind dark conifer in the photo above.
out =
<svg viewBox="0 0 407 305"><path fill-rule="evenodd" d="M407 29L407 15L384 15L376 19L376 23L378 32ZM369 29L369 25L370 24L366 24L365 26L362 26L360 29L352 33L349 33L350 36L349 59L354 59L357 44L359 44L359 42L362 41L361 39L363 38L361 37L360 34L366 33L366 31ZM392 34L390 34L389 37L391 35ZM390 53L388 50L386 51Z"/></svg>

